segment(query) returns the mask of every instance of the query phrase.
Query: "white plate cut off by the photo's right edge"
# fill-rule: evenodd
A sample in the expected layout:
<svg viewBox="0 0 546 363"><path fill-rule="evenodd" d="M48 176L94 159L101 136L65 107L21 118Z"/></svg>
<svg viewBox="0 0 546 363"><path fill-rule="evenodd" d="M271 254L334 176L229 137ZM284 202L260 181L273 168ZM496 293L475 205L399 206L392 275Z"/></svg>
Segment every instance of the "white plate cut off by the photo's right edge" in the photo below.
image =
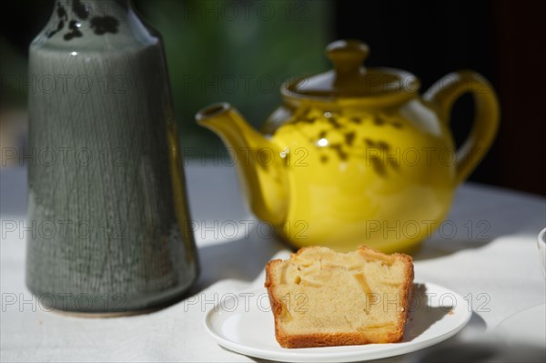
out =
<svg viewBox="0 0 546 363"><path fill-rule="evenodd" d="M544 347L546 341L546 304L521 310L501 321L495 334L515 343Z"/></svg>

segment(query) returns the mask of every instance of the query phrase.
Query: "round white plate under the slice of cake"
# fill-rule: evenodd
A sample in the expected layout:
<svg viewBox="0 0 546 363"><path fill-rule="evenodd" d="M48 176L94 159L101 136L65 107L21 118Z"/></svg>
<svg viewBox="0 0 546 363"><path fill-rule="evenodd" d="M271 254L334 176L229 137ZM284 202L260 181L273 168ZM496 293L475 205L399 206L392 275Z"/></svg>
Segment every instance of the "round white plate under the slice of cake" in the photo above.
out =
<svg viewBox="0 0 546 363"><path fill-rule="evenodd" d="M418 284L400 343L326 348L281 348L265 288L231 294L207 312L205 327L218 344L250 357L283 362L352 362L387 358L452 337L472 315L468 302L448 288ZM426 291L425 291L426 289Z"/></svg>

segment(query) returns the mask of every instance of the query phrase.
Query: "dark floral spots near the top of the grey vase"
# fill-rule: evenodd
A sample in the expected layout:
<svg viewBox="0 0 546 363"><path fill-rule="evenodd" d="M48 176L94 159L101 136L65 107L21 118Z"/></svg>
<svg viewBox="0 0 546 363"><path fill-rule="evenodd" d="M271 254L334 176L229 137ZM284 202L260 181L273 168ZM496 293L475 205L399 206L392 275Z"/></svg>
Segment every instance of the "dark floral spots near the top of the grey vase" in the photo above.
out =
<svg viewBox="0 0 546 363"><path fill-rule="evenodd" d="M56 15L58 16L59 21L56 29L46 33L48 38L65 30L66 24L68 31L63 35L63 39L68 41L76 37L81 37L83 36L83 33L80 30L82 22L86 22L87 20L90 21L91 28L96 35L105 35L106 33L116 34L117 25L119 25L119 22L114 16L93 16L89 19L89 9L87 8L87 5L82 4L81 0L73 0L70 14L66 11L65 5L61 5L60 2L57 3ZM70 19L69 21L69 18L72 17L71 15L76 16L78 20Z"/></svg>

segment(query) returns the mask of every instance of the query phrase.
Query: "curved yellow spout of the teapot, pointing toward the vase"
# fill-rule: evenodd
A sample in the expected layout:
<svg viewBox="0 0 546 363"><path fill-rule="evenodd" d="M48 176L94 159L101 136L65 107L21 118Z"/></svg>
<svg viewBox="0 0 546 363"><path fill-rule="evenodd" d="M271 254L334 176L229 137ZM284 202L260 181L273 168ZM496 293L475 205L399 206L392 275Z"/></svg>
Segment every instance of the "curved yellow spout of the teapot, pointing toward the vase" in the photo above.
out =
<svg viewBox="0 0 546 363"><path fill-rule="evenodd" d="M242 192L254 214L273 226L282 224L288 212L288 183L280 148L227 103L203 108L196 120L233 151Z"/></svg>

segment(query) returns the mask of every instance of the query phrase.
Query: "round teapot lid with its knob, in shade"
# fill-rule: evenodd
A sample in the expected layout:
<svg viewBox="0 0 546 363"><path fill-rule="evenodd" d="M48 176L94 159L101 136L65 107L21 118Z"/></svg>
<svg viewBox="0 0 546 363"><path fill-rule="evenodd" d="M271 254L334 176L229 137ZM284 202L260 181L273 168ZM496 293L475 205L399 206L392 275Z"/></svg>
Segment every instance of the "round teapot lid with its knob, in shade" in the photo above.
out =
<svg viewBox="0 0 546 363"><path fill-rule="evenodd" d="M420 81L409 72L394 68L367 68L368 45L358 40L338 40L326 47L334 65L328 72L298 78L283 86L284 96L331 100L377 96L410 96Z"/></svg>

